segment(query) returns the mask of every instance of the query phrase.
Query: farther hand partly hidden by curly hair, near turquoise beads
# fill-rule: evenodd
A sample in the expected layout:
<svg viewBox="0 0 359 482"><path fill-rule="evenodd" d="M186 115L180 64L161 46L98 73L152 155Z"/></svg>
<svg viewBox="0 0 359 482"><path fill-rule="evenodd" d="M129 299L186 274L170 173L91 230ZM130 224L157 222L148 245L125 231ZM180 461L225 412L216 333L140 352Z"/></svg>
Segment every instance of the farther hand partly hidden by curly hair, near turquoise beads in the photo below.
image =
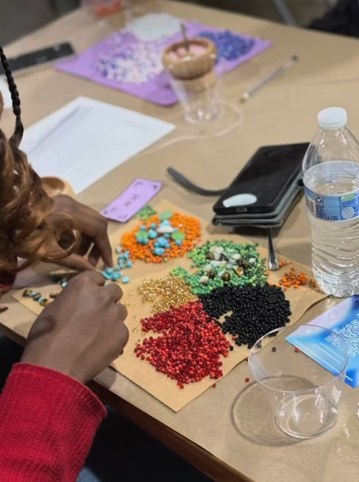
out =
<svg viewBox="0 0 359 482"><path fill-rule="evenodd" d="M65 268L75 269L76 271L93 271L101 257L107 266L113 266L112 249L107 235L106 218L88 206L64 194L55 196L53 202L54 212L70 214L76 219L82 233L81 245L78 252L56 261L56 263ZM92 249L88 259L83 258L82 256L90 250L91 246Z"/></svg>

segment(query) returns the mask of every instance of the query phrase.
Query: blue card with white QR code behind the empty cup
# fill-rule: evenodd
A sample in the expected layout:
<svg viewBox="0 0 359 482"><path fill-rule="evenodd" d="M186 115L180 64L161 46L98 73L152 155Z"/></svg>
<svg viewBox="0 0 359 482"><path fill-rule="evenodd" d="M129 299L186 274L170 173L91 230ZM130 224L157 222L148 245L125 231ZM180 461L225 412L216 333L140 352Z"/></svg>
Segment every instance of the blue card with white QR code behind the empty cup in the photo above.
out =
<svg viewBox="0 0 359 482"><path fill-rule="evenodd" d="M346 369L346 383L355 388L359 385L359 295L352 296L319 315L306 325L322 326L336 333L346 344L349 361ZM334 337L335 338L335 337ZM308 329L298 329L287 336L287 341L310 357L315 362L338 375L332 364L328 363L331 346L336 340L325 333L311 334Z"/></svg>

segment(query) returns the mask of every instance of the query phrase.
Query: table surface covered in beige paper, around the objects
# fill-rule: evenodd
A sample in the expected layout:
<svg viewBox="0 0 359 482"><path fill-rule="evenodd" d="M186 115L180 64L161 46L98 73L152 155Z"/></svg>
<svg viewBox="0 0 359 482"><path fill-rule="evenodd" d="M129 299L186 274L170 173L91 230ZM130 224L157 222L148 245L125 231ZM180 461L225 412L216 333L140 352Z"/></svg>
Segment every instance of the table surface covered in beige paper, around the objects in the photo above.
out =
<svg viewBox="0 0 359 482"><path fill-rule="evenodd" d="M158 199L169 199L210 220L213 199L188 194L178 187L166 174L167 166L180 169L203 187L226 186L258 147L310 140L317 129L316 115L319 109L332 105L347 109L349 126L354 134L359 135L358 40L284 27L185 3L161 1L156 3L155 8L218 27L262 36L274 42L271 49L226 76L225 93L229 101L235 102L247 87L291 55L297 54L300 62L243 107L242 124L235 131L215 139L183 140L158 150L150 147L88 188L79 196L80 201L99 210L140 174L164 181ZM105 37L114 27L120 26L120 19L114 19L112 25L98 24L79 11L15 42L6 49L6 53L16 55L61 40L70 40L81 51ZM157 107L90 81L56 72L51 67L16 76L16 81L25 126L40 120L78 95L88 95L180 123L179 107ZM1 124L6 132L11 132L13 117L10 112L4 113ZM174 132L170 138L177 135ZM163 141L156 147L161 144ZM264 238L257 239L265 242ZM275 242L281 254L303 264L310 263L309 227L303 200L295 207ZM2 301L10 307L1 315L2 328L13 335L26 336L34 315L13 302L10 296ZM304 321L309 321L332 304L332 300L324 301L307 313ZM264 396L255 385L244 383L247 375L247 364L242 363L221 380L215 390L207 391L176 414L110 369L102 373L98 381L121 400L197 443L226 464L239 478L241 475L243 480L358 480L358 390L345 387L340 420L335 429L317 440L294 442L286 440L273 427ZM218 476L217 480L220 478Z"/></svg>

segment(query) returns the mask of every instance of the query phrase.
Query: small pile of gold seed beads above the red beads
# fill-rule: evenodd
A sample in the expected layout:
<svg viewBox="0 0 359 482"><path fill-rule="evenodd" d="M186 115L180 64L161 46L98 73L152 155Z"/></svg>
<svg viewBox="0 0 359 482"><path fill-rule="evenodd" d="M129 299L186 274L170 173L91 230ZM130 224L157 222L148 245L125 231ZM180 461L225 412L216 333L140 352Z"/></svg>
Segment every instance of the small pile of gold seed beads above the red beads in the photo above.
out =
<svg viewBox="0 0 359 482"><path fill-rule="evenodd" d="M144 303L152 303L152 312L160 313L197 300L183 278L173 275L159 280L144 280L138 288Z"/></svg>

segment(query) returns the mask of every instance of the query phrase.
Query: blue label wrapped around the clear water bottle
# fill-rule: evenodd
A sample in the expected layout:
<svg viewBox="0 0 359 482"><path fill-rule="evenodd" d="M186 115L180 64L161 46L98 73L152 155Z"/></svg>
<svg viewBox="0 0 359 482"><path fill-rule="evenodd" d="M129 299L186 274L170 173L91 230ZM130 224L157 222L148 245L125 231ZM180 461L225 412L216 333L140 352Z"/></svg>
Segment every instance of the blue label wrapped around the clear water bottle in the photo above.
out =
<svg viewBox="0 0 359 482"><path fill-rule="evenodd" d="M346 221L359 216L359 190L343 196L325 196L307 187L305 191L308 211L319 219Z"/></svg>

